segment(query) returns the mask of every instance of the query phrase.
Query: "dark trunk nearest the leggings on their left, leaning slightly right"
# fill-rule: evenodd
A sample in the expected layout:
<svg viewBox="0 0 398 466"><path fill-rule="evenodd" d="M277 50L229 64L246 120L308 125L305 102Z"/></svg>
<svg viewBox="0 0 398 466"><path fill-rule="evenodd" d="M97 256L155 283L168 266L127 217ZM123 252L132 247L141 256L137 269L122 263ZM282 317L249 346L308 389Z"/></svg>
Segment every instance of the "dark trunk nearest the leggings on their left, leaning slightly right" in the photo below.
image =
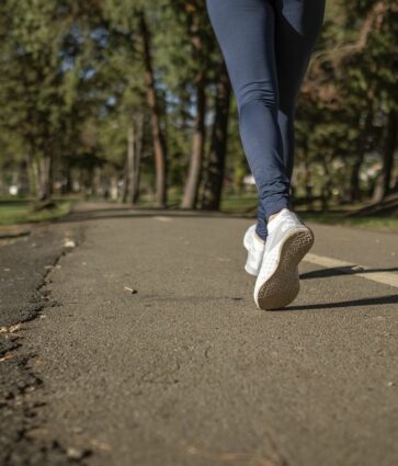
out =
<svg viewBox="0 0 398 466"><path fill-rule="evenodd" d="M221 61L215 105L211 154L205 173L202 208L218 211L221 202L225 161L228 143L228 120L231 87L224 60Z"/></svg>

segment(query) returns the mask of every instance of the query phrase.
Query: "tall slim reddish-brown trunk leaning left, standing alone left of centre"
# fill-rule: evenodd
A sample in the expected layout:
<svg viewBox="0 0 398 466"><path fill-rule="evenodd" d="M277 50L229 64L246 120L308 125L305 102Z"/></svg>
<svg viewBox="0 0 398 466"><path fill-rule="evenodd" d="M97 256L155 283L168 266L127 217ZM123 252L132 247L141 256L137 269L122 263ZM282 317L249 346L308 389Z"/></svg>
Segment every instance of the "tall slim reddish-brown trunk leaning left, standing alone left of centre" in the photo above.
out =
<svg viewBox="0 0 398 466"><path fill-rule="evenodd" d="M153 140L155 168L156 168L156 198L160 207L167 205L167 155L164 135L161 128L159 99L155 87L152 57L150 50L150 32L148 30L145 12L139 12L140 34L144 45L145 83L147 88L147 101L150 111L150 125Z"/></svg>

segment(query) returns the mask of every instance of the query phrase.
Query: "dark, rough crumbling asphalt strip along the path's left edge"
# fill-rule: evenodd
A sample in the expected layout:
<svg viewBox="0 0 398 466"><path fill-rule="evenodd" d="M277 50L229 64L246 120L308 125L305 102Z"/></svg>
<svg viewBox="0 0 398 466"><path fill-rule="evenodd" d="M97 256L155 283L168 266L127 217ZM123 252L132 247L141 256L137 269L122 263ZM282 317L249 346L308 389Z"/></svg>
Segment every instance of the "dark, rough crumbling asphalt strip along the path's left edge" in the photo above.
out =
<svg viewBox="0 0 398 466"><path fill-rule="evenodd" d="M79 236L73 228L75 236ZM0 242L0 464L68 465L71 458L54 436L36 439L46 419L43 380L32 370L35 353L24 345L27 322L53 305L46 276L67 252L71 228L37 227L31 236Z"/></svg>

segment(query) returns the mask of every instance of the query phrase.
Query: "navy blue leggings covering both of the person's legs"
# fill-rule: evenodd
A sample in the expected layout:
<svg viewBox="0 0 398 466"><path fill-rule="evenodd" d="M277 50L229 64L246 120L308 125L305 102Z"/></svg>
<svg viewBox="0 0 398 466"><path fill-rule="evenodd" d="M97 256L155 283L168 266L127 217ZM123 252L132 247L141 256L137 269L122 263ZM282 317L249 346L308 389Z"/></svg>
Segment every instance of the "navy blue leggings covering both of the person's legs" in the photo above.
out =
<svg viewBox="0 0 398 466"><path fill-rule="evenodd" d="M297 95L325 0L206 0L238 103L240 137L259 193L257 234L289 207Z"/></svg>

